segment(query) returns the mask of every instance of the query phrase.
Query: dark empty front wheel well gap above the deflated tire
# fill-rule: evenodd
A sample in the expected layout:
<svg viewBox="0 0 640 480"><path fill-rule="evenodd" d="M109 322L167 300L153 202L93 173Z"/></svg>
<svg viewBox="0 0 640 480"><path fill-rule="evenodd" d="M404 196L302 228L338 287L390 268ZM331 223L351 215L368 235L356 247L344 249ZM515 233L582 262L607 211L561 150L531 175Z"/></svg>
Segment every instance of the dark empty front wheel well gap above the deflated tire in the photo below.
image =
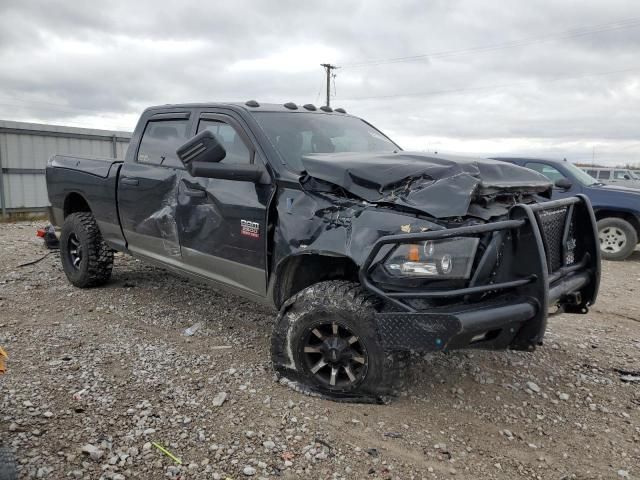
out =
<svg viewBox="0 0 640 480"><path fill-rule="evenodd" d="M342 256L303 254L286 259L278 267L276 306L280 308L299 291L326 280L358 281L358 266L349 257Z"/></svg>

